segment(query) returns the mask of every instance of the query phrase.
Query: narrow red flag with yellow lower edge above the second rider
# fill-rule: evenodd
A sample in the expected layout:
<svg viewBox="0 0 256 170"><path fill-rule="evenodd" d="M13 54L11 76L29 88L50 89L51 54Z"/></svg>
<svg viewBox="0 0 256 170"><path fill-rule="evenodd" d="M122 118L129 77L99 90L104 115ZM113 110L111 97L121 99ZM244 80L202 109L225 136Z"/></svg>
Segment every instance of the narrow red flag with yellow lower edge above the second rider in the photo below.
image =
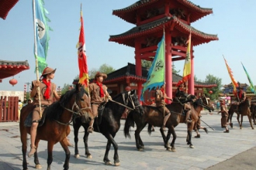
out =
<svg viewBox="0 0 256 170"><path fill-rule="evenodd" d="M79 82L82 85L85 85L85 89L88 88L88 66L87 66L87 59L85 54L85 32L84 32L84 21L81 12L81 28L80 28L80 35L79 41L77 44L78 48L78 66L79 66Z"/></svg>

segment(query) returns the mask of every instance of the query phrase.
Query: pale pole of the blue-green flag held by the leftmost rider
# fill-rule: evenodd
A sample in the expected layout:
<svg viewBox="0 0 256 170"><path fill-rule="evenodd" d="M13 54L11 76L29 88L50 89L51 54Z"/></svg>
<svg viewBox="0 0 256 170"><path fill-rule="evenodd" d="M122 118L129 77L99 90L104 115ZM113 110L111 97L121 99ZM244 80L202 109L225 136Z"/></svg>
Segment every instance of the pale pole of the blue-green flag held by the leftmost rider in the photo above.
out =
<svg viewBox="0 0 256 170"><path fill-rule="evenodd" d="M37 45L36 45L36 2L33 1L33 28L34 28L34 45L35 45L35 58L36 58L36 81L39 81L39 70L38 70L38 60L37 60ZM38 93L38 100L39 100L39 110L40 110L40 118L42 117L42 108L41 108L41 99L40 99L40 87L36 87L36 92Z"/></svg>

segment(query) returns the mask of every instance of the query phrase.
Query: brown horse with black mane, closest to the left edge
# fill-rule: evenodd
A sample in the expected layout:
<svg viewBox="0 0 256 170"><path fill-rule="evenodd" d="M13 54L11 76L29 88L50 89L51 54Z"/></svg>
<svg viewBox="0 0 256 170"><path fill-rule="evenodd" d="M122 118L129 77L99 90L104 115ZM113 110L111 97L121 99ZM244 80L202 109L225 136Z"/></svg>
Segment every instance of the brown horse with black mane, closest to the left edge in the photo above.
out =
<svg viewBox="0 0 256 170"><path fill-rule="evenodd" d="M22 142L23 169L27 169L26 138L27 134L30 134L30 127L26 126L25 122L27 121L26 117L28 117L28 115L32 113L33 108L33 104L28 104L25 107L22 107L20 114L19 131ZM69 90L67 91L67 93L64 93L59 101L54 102L43 111L43 117L45 117L44 123L42 123L42 125L40 125L40 123L37 128L35 142L36 148L38 148L40 140L48 141L48 170L50 170L50 165L53 162L53 148L54 145L57 144L57 142L61 143L61 146L62 148L64 148L66 155L63 167L65 170L69 168L69 159L71 153L67 147L66 137L71 131L69 124L72 121L72 115L82 117L83 122L88 122L93 118L88 93L85 91L84 87L81 87L81 85L78 84L75 89ZM36 168L42 168L38 160L37 151L34 154L34 162L36 164Z"/></svg>

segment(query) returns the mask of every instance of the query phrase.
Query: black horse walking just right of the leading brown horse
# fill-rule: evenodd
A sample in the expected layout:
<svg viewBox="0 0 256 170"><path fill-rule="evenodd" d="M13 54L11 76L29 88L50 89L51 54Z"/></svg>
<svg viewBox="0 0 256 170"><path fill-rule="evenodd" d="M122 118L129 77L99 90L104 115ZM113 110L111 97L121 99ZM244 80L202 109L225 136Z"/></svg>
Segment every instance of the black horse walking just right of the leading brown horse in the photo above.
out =
<svg viewBox="0 0 256 170"><path fill-rule="evenodd" d="M126 91L123 93L119 93L116 97L113 97L112 100L106 103L104 110L102 110L102 114L99 113L98 117L95 117L95 124L93 124L93 128L95 132L102 133L107 139L106 152L103 158L103 162L106 165L112 165L112 162L109 160L109 149L111 144L114 147L114 165L119 166L119 155L118 155L118 145L114 140L117 131L120 128L120 120L127 109L129 110L137 110L137 113L143 114L143 107L140 105L140 101L135 93L135 90ZM101 121L99 121L101 120ZM84 134L84 143L85 143L85 155L87 158L92 158L91 153L88 150L88 124L82 123L81 118L77 117L74 119L73 128L74 128L74 157L79 157L78 152L78 130L80 127L85 129Z"/></svg>

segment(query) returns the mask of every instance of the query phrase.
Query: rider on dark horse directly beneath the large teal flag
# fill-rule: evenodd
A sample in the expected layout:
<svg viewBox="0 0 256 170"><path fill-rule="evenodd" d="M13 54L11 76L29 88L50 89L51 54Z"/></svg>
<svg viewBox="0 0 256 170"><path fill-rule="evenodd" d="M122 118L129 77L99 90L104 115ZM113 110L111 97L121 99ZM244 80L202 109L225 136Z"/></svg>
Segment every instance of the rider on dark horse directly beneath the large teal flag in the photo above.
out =
<svg viewBox="0 0 256 170"><path fill-rule="evenodd" d="M165 104L168 100L172 100L171 97L168 97L166 93L164 92L165 84L161 86L161 89L156 90L155 95L155 103L157 107L161 107L161 112L164 113L164 122L161 127L163 131L165 131L165 124L168 121L168 118L171 116L170 110L168 110L167 107L165 107Z"/></svg>

